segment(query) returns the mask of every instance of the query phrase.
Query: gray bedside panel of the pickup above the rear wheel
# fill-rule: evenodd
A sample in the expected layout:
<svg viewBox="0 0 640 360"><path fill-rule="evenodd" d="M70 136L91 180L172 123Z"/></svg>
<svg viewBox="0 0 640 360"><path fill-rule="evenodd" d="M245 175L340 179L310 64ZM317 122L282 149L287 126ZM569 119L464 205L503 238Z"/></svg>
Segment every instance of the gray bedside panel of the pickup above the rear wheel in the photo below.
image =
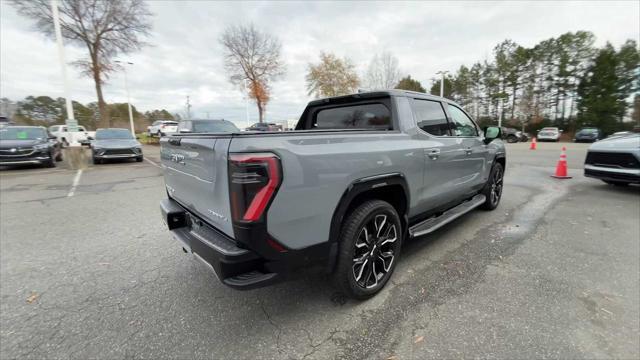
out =
<svg viewBox="0 0 640 360"><path fill-rule="evenodd" d="M357 179L401 173L409 188L422 186L423 150L400 132L262 134L234 138L229 147L230 153L261 151L277 154L283 172L267 227L292 249L329 239L338 202Z"/></svg>

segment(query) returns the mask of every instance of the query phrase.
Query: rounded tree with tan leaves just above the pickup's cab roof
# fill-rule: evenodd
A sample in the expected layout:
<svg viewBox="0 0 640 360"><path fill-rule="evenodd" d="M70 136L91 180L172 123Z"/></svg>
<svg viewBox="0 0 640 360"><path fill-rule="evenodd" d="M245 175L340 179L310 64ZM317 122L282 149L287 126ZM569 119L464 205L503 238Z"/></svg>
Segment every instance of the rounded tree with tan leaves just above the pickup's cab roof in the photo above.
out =
<svg viewBox="0 0 640 360"><path fill-rule="evenodd" d="M355 67L347 58L320 53L320 63L309 64L306 76L307 91L315 97L337 96L353 93L360 84Z"/></svg>

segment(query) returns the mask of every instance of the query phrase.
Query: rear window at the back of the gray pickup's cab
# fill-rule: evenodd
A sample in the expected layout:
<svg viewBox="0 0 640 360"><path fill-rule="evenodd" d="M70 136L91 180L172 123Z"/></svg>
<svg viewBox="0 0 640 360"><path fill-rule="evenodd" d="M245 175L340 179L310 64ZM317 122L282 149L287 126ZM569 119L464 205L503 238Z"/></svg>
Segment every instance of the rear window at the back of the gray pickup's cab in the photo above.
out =
<svg viewBox="0 0 640 360"><path fill-rule="evenodd" d="M357 104L319 110L313 119L314 129L389 130L391 111L384 104Z"/></svg>

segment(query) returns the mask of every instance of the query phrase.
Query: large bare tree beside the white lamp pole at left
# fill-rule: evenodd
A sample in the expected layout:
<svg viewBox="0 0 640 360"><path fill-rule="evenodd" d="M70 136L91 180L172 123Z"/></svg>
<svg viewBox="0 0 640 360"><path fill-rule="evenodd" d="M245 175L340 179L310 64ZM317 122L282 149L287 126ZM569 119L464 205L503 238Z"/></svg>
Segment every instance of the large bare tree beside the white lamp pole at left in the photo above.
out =
<svg viewBox="0 0 640 360"><path fill-rule="evenodd" d="M73 44L84 45L87 59L74 64L93 78L98 96L100 126L109 126L109 114L102 85L109 73L116 70L112 59L139 50L151 29L147 5L142 0L60 0L62 36ZM18 13L35 20L36 29L54 37L50 0L13 1Z"/></svg>

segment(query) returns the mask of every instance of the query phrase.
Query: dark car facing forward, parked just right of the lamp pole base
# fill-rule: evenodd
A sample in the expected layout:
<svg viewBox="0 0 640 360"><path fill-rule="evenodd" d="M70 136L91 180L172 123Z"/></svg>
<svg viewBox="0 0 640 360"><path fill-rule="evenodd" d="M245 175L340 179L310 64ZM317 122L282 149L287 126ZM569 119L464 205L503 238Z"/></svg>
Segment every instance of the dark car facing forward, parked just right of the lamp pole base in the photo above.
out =
<svg viewBox="0 0 640 360"><path fill-rule="evenodd" d="M96 139L91 142L93 163L101 164L108 159L136 159L142 161L142 145L127 129L98 129Z"/></svg>

